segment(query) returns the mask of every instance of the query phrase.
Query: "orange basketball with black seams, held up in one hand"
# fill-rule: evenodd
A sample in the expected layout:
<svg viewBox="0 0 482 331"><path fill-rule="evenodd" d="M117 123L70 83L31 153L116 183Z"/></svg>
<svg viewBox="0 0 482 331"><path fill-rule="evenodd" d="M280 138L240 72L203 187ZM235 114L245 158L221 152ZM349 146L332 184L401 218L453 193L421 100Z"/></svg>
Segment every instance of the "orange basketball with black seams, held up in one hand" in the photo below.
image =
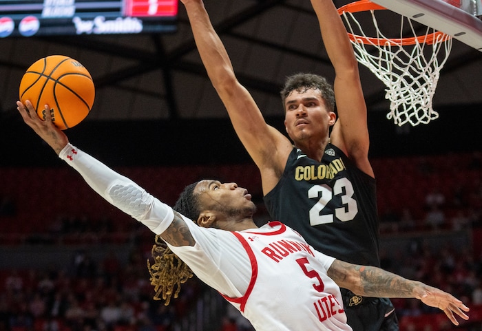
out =
<svg viewBox="0 0 482 331"><path fill-rule="evenodd" d="M78 125L90 112L95 98L92 76L78 61L63 55L41 58L23 74L20 100L30 100L45 120L50 106L52 122L61 130Z"/></svg>

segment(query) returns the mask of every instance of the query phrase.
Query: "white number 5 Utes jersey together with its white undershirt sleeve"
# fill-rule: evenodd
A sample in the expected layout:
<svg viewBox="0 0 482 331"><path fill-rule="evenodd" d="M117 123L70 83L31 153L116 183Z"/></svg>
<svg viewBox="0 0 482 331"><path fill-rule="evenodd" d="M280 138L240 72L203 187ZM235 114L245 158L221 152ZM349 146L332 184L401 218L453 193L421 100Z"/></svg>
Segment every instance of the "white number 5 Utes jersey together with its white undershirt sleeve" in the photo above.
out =
<svg viewBox="0 0 482 331"><path fill-rule="evenodd" d="M169 248L256 330L351 330L339 287L326 275L335 259L291 228L271 222L229 232L187 224L196 245Z"/></svg>

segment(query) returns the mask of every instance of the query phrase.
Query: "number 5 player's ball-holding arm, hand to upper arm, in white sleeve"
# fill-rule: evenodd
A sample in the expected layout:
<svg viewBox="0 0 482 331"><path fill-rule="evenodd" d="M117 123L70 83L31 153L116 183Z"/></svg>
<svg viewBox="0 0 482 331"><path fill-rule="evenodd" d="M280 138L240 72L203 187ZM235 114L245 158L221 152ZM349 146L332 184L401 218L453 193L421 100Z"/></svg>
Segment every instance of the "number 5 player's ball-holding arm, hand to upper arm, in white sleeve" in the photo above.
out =
<svg viewBox="0 0 482 331"><path fill-rule="evenodd" d="M30 101L17 101L23 121L31 127L63 160L82 175L85 182L107 202L131 215L173 246L194 246L195 241L178 213L147 193L129 178L116 173L89 154L69 145L67 136L52 123L45 105L45 120L37 116ZM65 154L65 155L64 155ZM67 157L65 157L67 155Z"/></svg>

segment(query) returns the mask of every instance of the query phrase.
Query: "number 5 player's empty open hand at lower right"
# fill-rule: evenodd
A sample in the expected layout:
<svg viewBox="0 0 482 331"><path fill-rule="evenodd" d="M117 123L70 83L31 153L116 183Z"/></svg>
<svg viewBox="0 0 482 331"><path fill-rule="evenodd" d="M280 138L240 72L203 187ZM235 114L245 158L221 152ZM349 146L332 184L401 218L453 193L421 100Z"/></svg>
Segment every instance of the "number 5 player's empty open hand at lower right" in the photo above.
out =
<svg viewBox="0 0 482 331"><path fill-rule="evenodd" d="M455 325L459 325L459 322L455 318L454 313L459 315L462 319L469 319L465 314L465 312L469 311L469 308L453 295L443 292L443 290L439 290L438 288L426 285L418 286L414 291L417 293L417 299L420 299L427 306L443 310L450 321Z"/></svg>

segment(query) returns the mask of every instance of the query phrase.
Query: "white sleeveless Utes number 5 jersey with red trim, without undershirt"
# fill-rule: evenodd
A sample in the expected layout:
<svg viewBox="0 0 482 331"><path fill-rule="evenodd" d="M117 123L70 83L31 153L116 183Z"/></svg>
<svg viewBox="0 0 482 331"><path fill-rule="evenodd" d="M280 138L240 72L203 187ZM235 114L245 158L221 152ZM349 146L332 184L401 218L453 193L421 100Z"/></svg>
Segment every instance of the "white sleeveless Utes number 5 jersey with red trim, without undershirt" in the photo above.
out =
<svg viewBox="0 0 482 331"><path fill-rule="evenodd" d="M244 296L226 299L256 330L351 330L339 287L326 275L333 258L279 222L233 235L253 271Z"/></svg>

